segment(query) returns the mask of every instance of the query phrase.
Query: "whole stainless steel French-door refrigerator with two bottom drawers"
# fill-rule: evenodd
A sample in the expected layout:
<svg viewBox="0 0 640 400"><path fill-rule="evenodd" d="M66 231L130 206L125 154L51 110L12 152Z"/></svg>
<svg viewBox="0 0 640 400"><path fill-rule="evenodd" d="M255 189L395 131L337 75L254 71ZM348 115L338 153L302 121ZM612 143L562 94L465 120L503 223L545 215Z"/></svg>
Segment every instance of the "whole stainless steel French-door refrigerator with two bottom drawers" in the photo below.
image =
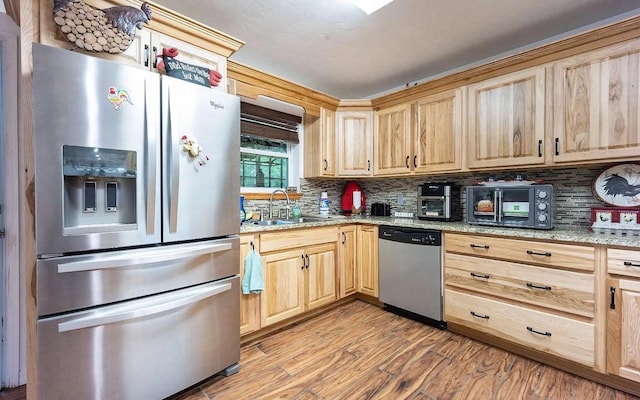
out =
<svg viewBox="0 0 640 400"><path fill-rule="evenodd" d="M39 398L235 372L239 99L40 44L33 66Z"/></svg>

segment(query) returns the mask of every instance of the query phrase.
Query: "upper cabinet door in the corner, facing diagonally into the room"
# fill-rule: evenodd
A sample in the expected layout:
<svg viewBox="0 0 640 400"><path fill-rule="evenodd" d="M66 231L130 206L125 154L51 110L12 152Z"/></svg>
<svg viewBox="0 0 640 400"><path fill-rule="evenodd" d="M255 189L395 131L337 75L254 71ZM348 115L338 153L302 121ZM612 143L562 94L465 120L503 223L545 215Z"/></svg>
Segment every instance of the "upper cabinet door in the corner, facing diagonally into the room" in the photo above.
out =
<svg viewBox="0 0 640 400"><path fill-rule="evenodd" d="M338 175L371 175L373 111L338 111Z"/></svg>

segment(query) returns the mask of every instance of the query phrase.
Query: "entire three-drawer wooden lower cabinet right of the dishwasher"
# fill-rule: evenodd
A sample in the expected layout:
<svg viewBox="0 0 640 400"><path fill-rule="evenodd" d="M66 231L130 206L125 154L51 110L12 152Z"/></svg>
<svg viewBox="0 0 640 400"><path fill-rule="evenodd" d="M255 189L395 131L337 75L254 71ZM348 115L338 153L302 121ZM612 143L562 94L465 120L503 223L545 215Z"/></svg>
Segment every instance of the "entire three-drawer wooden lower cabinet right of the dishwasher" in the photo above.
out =
<svg viewBox="0 0 640 400"><path fill-rule="evenodd" d="M446 233L445 318L596 368L594 252L593 246Z"/></svg>

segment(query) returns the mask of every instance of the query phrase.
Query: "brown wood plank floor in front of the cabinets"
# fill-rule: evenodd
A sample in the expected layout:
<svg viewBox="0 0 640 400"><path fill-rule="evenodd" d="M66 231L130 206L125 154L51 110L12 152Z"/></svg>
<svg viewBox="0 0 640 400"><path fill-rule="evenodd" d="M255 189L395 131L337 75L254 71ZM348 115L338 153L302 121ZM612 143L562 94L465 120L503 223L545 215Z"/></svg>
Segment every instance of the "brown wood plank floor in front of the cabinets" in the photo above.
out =
<svg viewBox="0 0 640 400"><path fill-rule="evenodd" d="M240 371L174 400L638 399L354 301L243 346Z"/></svg>

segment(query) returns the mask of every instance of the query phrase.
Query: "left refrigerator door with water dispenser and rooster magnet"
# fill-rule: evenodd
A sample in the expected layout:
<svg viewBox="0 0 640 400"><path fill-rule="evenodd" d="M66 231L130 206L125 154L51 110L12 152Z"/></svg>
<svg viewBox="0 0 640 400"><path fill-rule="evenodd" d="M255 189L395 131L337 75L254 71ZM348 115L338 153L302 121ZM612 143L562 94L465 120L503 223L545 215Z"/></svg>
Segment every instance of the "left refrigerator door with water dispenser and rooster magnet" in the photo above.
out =
<svg viewBox="0 0 640 400"><path fill-rule="evenodd" d="M33 58L37 254L160 243L158 75L40 44Z"/></svg>

